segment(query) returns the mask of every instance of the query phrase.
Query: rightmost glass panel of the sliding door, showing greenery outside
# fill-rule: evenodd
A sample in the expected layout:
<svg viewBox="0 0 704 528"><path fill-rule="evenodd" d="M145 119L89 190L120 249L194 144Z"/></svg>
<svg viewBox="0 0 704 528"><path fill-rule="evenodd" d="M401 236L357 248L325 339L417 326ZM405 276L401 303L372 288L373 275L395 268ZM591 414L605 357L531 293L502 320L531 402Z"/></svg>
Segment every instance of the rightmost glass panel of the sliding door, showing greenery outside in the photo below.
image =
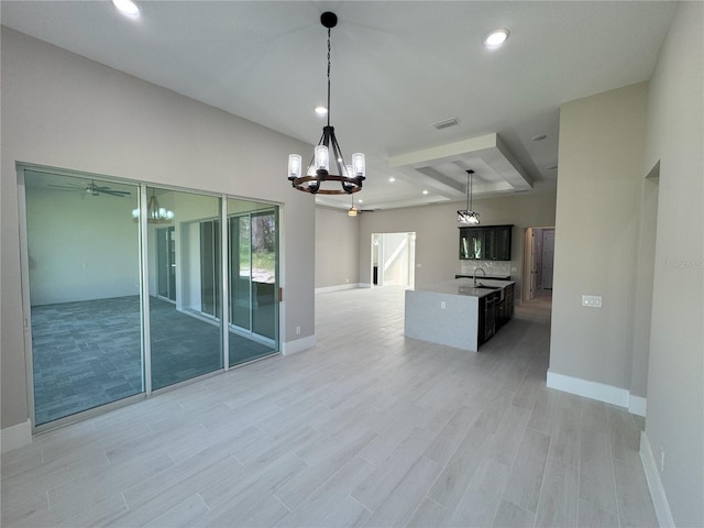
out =
<svg viewBox="0 0 704 528"><path fill-rule="evenodd" d="M228 200L230 365L278 350L278 229L271 205Z"/></svg>

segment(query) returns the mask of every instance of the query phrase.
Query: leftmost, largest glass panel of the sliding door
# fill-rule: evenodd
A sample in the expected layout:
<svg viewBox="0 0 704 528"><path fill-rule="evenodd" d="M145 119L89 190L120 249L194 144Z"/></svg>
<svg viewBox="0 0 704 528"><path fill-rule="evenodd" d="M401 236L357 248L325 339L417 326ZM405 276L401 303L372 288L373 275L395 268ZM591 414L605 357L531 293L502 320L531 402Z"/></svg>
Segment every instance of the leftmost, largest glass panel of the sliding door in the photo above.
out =
<svg viewBox="0 0 704 528"><path fill-rule="evenodd" d="M143 392L139 188L24 170L35 426Z"/></svg>

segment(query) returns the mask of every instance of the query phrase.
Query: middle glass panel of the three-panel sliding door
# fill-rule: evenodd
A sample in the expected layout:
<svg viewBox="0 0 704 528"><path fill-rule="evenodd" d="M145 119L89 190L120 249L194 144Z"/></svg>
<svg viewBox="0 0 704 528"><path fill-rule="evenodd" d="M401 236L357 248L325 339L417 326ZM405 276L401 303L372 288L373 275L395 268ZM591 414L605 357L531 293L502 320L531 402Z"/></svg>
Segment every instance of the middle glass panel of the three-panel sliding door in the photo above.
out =
<svg viewBox="0 0 704 528"><path fill-rule="evenodd" d="M220 260L213 235L220 198L147 188L162 218L147 217L150 274L150 345L152 388L157 389L222 369L219 319ZM152 198L150 198L150 205ZM166 224L166 226L164 226ZM158 230L174 229L175 304L157 295L158 265L153 251Z"/></svg>

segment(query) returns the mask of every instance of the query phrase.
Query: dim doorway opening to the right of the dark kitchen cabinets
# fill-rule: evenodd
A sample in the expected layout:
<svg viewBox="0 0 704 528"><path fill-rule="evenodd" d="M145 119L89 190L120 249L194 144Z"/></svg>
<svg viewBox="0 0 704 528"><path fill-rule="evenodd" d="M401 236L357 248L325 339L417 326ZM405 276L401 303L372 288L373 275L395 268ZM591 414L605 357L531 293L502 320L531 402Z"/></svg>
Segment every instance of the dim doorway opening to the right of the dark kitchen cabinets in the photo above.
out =
<svg viewBox="0 0 704 528"><path fill-rule="evenodd" d="M552 292L554 227L526 228L524 241L522 299Z"/></svg>

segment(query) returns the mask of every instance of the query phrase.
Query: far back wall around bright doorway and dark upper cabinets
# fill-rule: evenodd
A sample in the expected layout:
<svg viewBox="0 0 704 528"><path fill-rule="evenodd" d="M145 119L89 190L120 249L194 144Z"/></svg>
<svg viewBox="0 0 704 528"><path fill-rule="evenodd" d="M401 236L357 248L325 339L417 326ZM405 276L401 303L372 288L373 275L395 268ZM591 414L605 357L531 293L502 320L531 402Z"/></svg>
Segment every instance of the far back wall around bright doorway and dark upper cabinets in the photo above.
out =
<svg viewBox="0 0 704 528"><path fill-rule="evenodd" d="M517 292L522 273L524 230L554 226L554 200L552 194L474 199L482 224L514 224L510 274L518 279ZM360 218L360 283L372 284L372 233L416 232L416 286L450 280L462 272L457 202L364 212Z"/></svg>

